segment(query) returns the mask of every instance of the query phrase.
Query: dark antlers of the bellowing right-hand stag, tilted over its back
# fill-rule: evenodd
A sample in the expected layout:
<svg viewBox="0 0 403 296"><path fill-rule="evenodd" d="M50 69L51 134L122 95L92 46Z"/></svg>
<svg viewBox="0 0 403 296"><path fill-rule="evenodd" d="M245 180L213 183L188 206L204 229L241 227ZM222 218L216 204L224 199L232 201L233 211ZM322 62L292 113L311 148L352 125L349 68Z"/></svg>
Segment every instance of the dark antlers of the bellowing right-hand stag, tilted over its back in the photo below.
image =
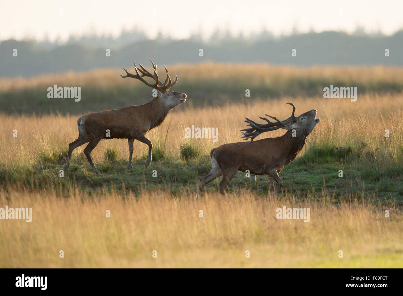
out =
<svg viewBox="0 0 403 296"><path fill-rule="evenodd" d="M289 118L287 118L284 121L280 121L278 120L276 117L264 114L274 120L276 120L276 122L271 122L270 120L268 120L267 118L264 117L260 117L260 119L267 121L267 124L259 124L254 122L253 120L250 120L249 118L245 117L245 122L247 122L247 126L251 126L250 128L245 128L243 130L241 130L242 132L242 138L246 139L251 139L251 141L249 143L251 143L253 141L253 139L255 139L258 135L260 135L262 132L268 132L270 130L278 130L279 128L284 128L287 124L290 124L291 122L295 122L297 120L297 118L294 116L295 113L295 106L293 103L286 103L289 104L291 106L293 106L293 113L291 114L291 116Z"/></svg>

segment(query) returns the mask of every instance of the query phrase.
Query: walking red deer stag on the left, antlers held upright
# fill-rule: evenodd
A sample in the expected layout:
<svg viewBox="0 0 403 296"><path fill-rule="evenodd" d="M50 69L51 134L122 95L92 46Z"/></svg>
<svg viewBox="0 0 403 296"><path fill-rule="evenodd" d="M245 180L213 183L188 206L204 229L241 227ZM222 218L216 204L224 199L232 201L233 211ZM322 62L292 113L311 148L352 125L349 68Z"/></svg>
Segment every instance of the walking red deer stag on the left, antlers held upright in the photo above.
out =
<svg viewBox="0 0 403 296"><path fill-rule="evenodd" d="M139 64L140 68L137 68L136 63L134 63L136 74L133 75L123 68L127 75L120 75L120 77L131 77L138 79L149 87L156 89L157 97L144 105L93 112L85 116L81 116L77 120L79 136L77 140L69 144L69 154L67 155L64 170L69 168L71 153L73 150L85 143L88 143L87 147L84 149L84 154L87 156L93 172L99 174L91 160L91 151L102 139L114 138L129 140L129 169L133 168L131 159L133 155L134 140L136 139L147 144L148 158L145 161L145 167L147 168L151 161L152 144L150 140L145 137L145 134L150 129L159 126L172 108L186 101L185 93L169 91L169 89L173 87L175 83L177 83L178 77L175 75L175 79L172 82L171 78L169 77L168 70L165 67L166 79L165 83L162 83L158 78L157 66L152 61L151 63L154 74L148 72L143 66L141 66L141 64ZM154 83L146 81L143 79L143 77L150 77L154 79Z"/></svg>

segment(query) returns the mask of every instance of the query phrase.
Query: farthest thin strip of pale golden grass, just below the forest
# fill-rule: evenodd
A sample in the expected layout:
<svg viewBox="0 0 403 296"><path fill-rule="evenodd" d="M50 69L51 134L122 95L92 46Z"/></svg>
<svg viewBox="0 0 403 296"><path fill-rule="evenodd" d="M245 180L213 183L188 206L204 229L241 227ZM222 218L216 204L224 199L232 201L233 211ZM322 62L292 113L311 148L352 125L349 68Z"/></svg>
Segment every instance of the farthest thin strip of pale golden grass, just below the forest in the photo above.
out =
<svg viewBox="0 0 403 296"><path fill-rule="evenodd" d="M148 67L147 64L143 64ZM130 68L129 68L130 70ZM403 84L403 68L385 66L312 66L292 67L268 64L224 64L206 62L202 64L174 64L169 66L171 73L177 73L181 82L202 83L204 81L223 81L238 83L248 82L250 87L262 82L278 85L288 79L332 80L344 84L360 83L398 83ZM57 85L77 85L110 89L127 85L117 73L123 69L97 69L88 72L66 72L62 74L45 74L32 78L1 78L0 91L47 88Z"/></svg>

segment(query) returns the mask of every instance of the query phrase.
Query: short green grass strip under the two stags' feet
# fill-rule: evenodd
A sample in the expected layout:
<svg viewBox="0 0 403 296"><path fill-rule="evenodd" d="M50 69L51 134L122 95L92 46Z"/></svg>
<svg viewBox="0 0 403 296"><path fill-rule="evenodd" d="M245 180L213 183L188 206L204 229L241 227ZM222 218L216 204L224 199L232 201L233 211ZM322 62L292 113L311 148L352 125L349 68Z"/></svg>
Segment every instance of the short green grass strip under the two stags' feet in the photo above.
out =
<svg viewBox="0 0 403 296"><path fill-rule="evenodd" d="M353 195L371 199L375 196L380 203L403 201L402 164L397 167L383 166L382 163L361 162L349 157L334 160L338 158L337 155L330 154L329 157L324 150L317 151L322 153L321 161L302 165L301 161L292 161L280 172L280 178L283 180L283 191L279 193L280 196L287 192L303 199L306 195L313 194L319 201L323 194L329 193L332 196L332 203L351 199ZM179 195L181 192L183 196L189 195L189 198L193 198L199 179L211 169L208 155L191 157L187 160L185 157L161 158L158 161L153 159L147 168L144 167L143 159L133 159L132 170L127 169L126 159L116 159L114 149L106 155L109 161L96 164L101 172L99 175L93 174L87 161L73 159L64 178L59 177L62 164L51 163L46 166L38 164L32 168L13 167L2 170L0 183L3 186L19 184L30 189L61 186L63 193L70 190L69 188L80 190L125 188L124 190L133 192L163 189L172 192L173 195ZM304 155L301 158L303 159ZM325 159L328 162L325 163ZM153 177L154 170L157 172L157 177ZM343 177L339 177L339 170L343 170ZM220 181L221 177L209 183L204 190L217 192ZM267 177L265 175L247 177L244 173L238 172L226 191L236 192L241 189L256 191L258 195L265 197L269 190Z"/></svg>

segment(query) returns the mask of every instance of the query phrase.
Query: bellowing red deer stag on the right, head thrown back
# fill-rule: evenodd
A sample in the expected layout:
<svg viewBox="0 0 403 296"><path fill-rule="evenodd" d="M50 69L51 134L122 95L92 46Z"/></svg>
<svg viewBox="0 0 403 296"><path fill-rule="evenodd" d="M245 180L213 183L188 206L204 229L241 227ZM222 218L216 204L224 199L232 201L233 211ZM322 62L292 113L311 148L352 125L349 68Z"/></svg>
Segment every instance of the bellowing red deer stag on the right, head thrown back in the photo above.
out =
<svg viewBox="0 0 403 296"><path fill-rule="evenodd" d="M231 182L237 171L245 172L246 170L255 175L267 175L269 184L271 185L271 178L273 178L278 184L274 194L277 193L278 188L282 187L283 184L278 173L295 159L305 144L307 136L320 120L320 118L315 118L316 110L311 110L295 117L294 104L287 104L293 106L293 113L288 119L280 121L276 117L265 114L276 120L276 122L259 117L267 123L258 124L245 118L245 122L248 123L247 126L251 127L241 131L243 138L251 139L249 143L224 144L214 148L210 152L212 168L207 176L200 179L196 200L197 194L200 193L201 195L203 187L221 175L224 176L222 177L219 189L220 193L224 194L225 187ZM253 142L253 139L262 132L277 130L279 128L284 128L288 131L281 137L266 138Z"/></svg>

